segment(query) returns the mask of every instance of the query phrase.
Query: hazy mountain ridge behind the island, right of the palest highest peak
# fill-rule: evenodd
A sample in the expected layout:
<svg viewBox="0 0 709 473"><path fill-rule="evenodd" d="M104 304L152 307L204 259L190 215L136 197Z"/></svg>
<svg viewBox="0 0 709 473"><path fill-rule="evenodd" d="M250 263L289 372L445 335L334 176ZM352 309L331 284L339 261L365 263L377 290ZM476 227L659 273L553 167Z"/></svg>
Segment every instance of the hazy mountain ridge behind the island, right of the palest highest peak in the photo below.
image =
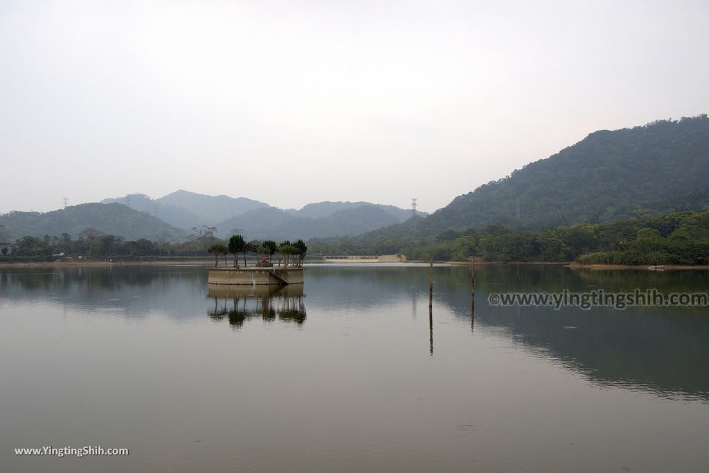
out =
<svg viewBox="0 0 709 473"><path fill-rule="evenodd" d="M381 205L345 207L327 217L296 217L286 210L267 207L252 210L217 224L220 236L234 231L246 239L310 239L313 236L344 236L369 232L399 222ZM411 212L411 211L409 211ZM299 213L299 212L298 212Z"/></svg>

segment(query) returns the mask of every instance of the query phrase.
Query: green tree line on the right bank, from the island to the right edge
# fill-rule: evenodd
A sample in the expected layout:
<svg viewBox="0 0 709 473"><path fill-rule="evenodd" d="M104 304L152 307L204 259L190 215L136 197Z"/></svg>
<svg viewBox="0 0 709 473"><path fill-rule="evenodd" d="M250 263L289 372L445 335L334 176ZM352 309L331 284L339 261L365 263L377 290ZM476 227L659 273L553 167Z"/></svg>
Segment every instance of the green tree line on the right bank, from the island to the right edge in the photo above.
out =
<svg viewBox="0 0 709 473"><path fill-rule="evenodd" d="M310 241L319 254L400 254L409 260L579 261L593 264L709 264L709 210L647 215L543 230L493 224L481 232L449 230L425 239Z"/></svg>

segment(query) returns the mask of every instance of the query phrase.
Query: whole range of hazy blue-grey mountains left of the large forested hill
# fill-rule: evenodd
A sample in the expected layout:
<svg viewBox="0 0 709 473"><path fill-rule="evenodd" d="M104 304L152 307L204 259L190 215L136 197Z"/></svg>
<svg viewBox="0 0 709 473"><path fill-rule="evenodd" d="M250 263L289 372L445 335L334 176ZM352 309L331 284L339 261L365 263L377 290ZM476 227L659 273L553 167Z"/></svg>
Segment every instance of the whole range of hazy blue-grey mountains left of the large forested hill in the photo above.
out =
<svg viewBox="0 0 709 473"><path fill-rule="evenodd" d="M353 236L403 222L411 210L366 202L321 202L301 210L281 210L266 203L226 195L202 195L178 190L159 199L145 194L105 199L100 204L74 205L54 212L10 212L0 224L13 239L22 236L76 237L86 227L125 239L185 239L192 227L218 227L226 237L234 229L247 239L308 239L313 236Z"/></svg>

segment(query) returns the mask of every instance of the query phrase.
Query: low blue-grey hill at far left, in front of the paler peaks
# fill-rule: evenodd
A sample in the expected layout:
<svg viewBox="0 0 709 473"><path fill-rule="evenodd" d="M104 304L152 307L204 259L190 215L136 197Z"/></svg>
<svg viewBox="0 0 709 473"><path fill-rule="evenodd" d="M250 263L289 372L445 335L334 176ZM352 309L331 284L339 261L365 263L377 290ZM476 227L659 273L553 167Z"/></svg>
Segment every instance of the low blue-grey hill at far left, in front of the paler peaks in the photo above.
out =
<svg viewBox="0 0 709 473"><path fill-rule="evenodd" d="M178 241L186 237L182 229L172 227L146 212L139 212L118 203L80 204L44 213L9 212L0 215L0 225L4 225L12 239L27 235L60 236L62 233L77 238L87 227L106 234L123 236L127 240L145 238L156 241L164 238Z"/></svg>

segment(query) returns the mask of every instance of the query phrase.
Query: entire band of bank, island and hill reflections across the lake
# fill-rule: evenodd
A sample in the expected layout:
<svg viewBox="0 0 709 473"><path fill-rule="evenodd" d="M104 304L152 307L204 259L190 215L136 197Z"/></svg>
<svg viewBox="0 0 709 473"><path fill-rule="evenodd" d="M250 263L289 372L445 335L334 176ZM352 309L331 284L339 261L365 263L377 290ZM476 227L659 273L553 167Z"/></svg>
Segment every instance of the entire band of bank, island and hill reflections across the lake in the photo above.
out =
<svg viewBox="0 0 709 473"><path fill-rule="evenodd" d="M429 312L428 352L433 354L434 312L447 314L474 337L506 336L540 358L557 360L597 387L621 386L663 397L709 400L709 314L700 307L635 307L590 310L551 307L491 307L490 292L561 292L603 289L630 292L657 287L664 293L700 292L709 271L576 271L562 266L479 265L471 297L468 267L434 268L434 307ZM306 271L311 319L360 314L391 319L402 310L401 329L415 321L428 298L428 265L311 267ZM247 320L290 322L304 327L303 286L208 287L206 268L179 266L0 268L2 313L14 304L72 308L99 317L146 320L167 317L200 322L224 320L235 329ZM206 302L205 297L210 300ZM477 301L476 301L477 300ZM411 301L411 304L408 303ZM402 305L403 302L403 305ZM205 307L208 305L208 307ZM396 311L396 312L395 312ZM438 327L438 326L437 326ZM572 328L573 327L573 328ZM469 331L469 332L468 332ZM316 335L313 335L316 336ZM420 339L423 351L423 338ZM396 348L396 339L391 339ZM437 330L437 354L450 343Z"/></svg>

